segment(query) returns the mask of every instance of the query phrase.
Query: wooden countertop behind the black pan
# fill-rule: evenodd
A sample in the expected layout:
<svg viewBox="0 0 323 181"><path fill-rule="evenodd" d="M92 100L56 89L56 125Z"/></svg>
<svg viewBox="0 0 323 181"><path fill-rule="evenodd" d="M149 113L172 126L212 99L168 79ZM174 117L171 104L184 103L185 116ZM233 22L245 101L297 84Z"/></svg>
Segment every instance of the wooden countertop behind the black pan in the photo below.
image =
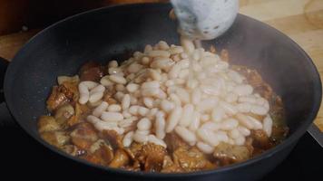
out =
<svg viewBox="0 0 323 181"><path fill-rule="evenodd" d="M308 52L323 79L323 0L240 0L240 13L288 34ZM36 32L0 36L0 56L12 59ZM315 123L323 131L323 108Z"/></svg>

